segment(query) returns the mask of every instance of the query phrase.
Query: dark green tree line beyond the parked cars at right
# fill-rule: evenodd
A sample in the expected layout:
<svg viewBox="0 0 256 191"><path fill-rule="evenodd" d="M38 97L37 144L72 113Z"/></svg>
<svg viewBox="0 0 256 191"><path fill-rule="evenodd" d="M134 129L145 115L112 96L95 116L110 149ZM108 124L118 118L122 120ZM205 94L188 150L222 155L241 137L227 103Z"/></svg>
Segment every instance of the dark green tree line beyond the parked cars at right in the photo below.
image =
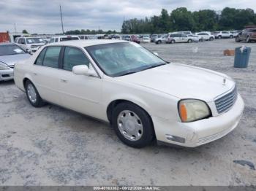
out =
<svg viewBox="0 0 256 191"><path fill-rule="evenodd" d="M173 9L170 14L162 9L160 15L145 19L124 20L123 34L159 34L171 31L225 31L241 30L244 26L255 25L256 14L253 9L226 7L221 12L203 9L195 12L186 7Z"/></svg>

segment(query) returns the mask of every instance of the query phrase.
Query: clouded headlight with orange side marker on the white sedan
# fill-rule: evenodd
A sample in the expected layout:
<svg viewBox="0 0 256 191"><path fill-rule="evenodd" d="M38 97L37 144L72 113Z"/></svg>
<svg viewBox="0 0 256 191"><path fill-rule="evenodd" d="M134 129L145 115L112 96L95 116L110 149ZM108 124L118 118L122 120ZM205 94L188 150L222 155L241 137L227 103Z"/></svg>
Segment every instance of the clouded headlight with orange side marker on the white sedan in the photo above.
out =
<svg viewBox="0 0 256 191"><path fill-rule="evenodd" d="M211 112L204 101L185 99L178 102L178 112L182 122L192 122L210 117Z"/></svg>

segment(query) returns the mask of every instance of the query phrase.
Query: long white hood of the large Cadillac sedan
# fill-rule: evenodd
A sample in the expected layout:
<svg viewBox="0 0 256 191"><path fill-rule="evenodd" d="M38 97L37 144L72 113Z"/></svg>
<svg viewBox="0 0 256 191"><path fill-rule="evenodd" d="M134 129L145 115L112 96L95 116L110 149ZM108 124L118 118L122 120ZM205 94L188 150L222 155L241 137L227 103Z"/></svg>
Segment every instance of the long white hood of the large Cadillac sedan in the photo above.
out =
<svg viewBox="0 0 256 191"><path fill-rule="evenodd" d="M178 63L170 63L117 79L177 98L195 98L203 101L213 101L235 85L235 82L225 74Z"/></svg>

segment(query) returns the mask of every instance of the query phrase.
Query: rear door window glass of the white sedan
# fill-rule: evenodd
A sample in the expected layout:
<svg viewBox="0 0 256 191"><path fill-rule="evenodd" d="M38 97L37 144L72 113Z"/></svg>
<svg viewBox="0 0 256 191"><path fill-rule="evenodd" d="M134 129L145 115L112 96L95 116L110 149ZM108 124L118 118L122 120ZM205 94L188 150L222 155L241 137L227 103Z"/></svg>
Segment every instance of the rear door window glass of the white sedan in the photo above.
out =
<svg viewBox="0 0 256 191"><path fill-rule="evenodd" d="M60 52L61 47L47 47L42 65L58 69Z"/></svg>

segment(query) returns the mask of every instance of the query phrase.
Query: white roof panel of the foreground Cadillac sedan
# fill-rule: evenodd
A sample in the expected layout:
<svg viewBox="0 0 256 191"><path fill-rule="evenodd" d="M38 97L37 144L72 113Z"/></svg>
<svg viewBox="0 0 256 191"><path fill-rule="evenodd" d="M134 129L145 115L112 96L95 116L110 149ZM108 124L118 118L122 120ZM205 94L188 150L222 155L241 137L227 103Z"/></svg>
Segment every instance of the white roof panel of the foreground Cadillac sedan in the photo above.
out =
<svg viewBox="0 0 256 191"><path fill-rule="evenodd" d="M61 46L89 47L93 45L112 44L112 43L118 43L118 42L127 42L127 41L113 40L113 39L70 40L70 41L63 41L63 42L54 42L54 43L48 44L47 46L61 45Z"/></svg>

